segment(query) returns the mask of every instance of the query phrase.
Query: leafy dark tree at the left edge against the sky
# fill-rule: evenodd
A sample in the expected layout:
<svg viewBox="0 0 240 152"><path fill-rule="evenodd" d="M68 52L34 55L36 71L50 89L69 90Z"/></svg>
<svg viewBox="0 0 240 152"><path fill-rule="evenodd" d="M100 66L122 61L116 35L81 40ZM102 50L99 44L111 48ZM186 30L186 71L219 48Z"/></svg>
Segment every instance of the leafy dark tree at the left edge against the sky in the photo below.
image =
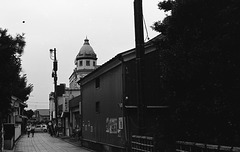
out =
<svg viewBox="0 0 240 152"><path fill-rule="evenodd" d="M11 96L24 102L33 89L31 84L27 85L26 75L21 75L24 46L23 35L12 37L0 28L0 119L11 110Z"/></svg>

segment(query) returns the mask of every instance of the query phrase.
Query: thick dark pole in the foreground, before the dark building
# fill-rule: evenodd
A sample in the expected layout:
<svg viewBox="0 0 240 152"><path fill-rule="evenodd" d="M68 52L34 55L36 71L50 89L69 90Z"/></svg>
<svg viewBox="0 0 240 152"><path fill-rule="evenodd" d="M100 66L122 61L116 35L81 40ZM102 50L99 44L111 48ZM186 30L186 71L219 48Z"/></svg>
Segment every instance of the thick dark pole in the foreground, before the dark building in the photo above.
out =
<svg viewBox="0 0 240 152"><path fill-rule="evenodd" d="M139 134L143 135L145 120L145 103L143 91L143 69L144 69L144 34L142 0L134 0L134 22L135 22L135 43L136 43L136 77L137 77L137 101L138 101L138 122Z"/></svg>

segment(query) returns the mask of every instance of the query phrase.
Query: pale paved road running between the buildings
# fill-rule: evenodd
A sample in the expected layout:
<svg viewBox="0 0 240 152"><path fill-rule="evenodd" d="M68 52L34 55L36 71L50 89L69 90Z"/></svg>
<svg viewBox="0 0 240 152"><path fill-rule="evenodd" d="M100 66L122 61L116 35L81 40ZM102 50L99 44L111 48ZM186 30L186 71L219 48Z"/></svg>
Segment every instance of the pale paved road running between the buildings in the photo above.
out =
<svg viewBox="0 0 240 152"><path fill-rule="evenodd" d="M23 135L15 146L14 152L90 152L74 146L47 133L35 133L34 137Z"/></svg>

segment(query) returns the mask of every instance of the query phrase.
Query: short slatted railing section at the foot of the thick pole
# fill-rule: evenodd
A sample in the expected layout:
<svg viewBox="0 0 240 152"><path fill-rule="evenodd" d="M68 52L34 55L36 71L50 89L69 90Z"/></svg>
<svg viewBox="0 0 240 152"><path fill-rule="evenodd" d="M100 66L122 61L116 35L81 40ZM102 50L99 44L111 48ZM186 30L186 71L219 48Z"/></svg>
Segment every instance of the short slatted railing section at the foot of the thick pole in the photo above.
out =
<svg viewBox="0 0 240 152"><path fill-rule="evenodd" d="M132 152L153 152L153 137L148 136L132 136Z"/></svg>

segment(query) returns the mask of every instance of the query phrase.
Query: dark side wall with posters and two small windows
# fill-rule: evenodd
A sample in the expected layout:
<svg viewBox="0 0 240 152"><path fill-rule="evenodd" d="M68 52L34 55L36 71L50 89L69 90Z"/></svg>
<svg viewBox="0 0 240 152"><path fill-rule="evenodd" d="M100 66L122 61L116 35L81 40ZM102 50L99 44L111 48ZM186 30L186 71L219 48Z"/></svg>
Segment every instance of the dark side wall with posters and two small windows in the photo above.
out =
<svg viewBox="0 0 240 152"><path fill-rule="evenodd" d="M83 138L124 147L122 66L115 67L82 86ZM119 123L121 122L121 123ZM119 125L121 124L121 125Z"/></svg>

